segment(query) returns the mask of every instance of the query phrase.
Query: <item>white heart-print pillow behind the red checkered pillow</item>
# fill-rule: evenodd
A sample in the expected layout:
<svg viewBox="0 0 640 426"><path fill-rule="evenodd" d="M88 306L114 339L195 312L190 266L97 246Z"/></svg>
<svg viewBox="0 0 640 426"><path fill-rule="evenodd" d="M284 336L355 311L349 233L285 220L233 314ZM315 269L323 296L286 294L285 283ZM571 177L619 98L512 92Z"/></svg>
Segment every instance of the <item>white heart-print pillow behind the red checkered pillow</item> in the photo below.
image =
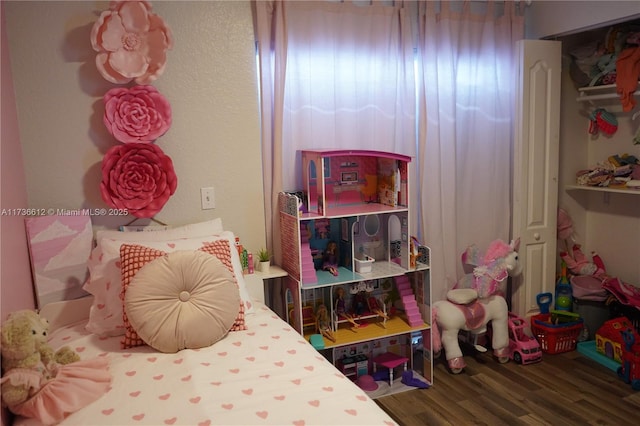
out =
<svg viewBox="0 0 640 426"><path fill-rule="evenodd" d="M210 231L203 235L207 227ZM235 235L230 231L222 231L221 228L221 221L214 220L205 222L205 224L187 225L168 231L99 231L96 236L97 245L91 252L88 262L89 280L83 286L84 290L94 296L89 311L87 330L100 336L120 336L125 332L122 319L122 300L120 299L122 286L120 246L123 243L141 244L165 252L173 252L176 250L197 250L206 242L224 238L233 248ZM163 235L169 238L162 238ZM237 250L231 250L231 263L238 282L240 298L245 305L245 314L252 313L253 303L242 275L242 264Z"/></svg>

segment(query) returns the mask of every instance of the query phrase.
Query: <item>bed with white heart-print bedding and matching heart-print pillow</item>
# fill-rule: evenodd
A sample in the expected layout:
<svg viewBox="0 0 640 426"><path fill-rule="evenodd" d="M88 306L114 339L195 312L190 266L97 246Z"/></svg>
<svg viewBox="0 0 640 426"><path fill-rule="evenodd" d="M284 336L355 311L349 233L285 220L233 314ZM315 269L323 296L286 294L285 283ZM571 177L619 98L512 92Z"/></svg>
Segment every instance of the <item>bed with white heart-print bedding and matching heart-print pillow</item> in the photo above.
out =
<svg viewBox="0 0 640 426"><path fill-rule="evenodd" d="M172 246L183 252L193 249L184 248L191 247L186 240L210 242L213 235L210 230L201 230L199 233L206 235L185 237L181 234L174 238L175 233L161 236L153 232L144 234L156 234L154 237L140 234L125 238L122 237L125 233L108 232L105 235L109 238L98 233L97 246L88 259L91 278L84 287L91 296L55 302L40 310L51 323L52 347L68 345L82 359L106 357L112 376L106 394L68 415L60 424L396 424L365 391L313 349L260 298L251 298L250 293L256 294L256 289L238 290L240 306L246 309L242 327L236 327L238 318L234 318L235 329L230 328L214 343L200 345L202 347L160 351L148 344L126 345L123 342L131 343L131 339L123 336L121 324L119 327L112 324L110 331L108 327L96 327L92 323L96 322L97 313L103 314L108 305L106 298L113 297L92 288L92 285L103 289L113 286L101 283L98 258L102 262L113 257L109 250L114 247L122 250L128 243ZM231 243L228 231L225 232L225 239ZM221 226L214 234L216 238L223 234ZM114 240L114 236L129 241ZM113 247L106 247L107 240L109 244L115 241L111 244ZM194 244L197 247L200 243ZM232 259L232 263L234 260L237 259ZM124 270L122 259L114 262ZM108 268L103 269L102 272ZM243 286L256 283L256 280L238 279L243 281ZM261 280L259 286L261 291ZM120 300L120 306L123 303ZM39 423L17 417L14 424Z"/></svg>

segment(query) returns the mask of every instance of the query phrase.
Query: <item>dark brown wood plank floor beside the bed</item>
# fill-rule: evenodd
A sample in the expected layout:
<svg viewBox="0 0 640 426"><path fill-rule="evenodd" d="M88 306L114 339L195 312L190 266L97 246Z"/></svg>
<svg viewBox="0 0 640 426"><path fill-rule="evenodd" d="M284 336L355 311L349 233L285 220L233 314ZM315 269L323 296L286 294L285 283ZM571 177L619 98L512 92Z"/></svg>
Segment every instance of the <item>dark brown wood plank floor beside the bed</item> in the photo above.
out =
<svg viewBox="0 0 640 426"><path fill-rule="evenodd" d="M434 386L376 400L401 425L640 425L640 391L577 351L540 363L468 354L466 369L434 366Z"/></svg>

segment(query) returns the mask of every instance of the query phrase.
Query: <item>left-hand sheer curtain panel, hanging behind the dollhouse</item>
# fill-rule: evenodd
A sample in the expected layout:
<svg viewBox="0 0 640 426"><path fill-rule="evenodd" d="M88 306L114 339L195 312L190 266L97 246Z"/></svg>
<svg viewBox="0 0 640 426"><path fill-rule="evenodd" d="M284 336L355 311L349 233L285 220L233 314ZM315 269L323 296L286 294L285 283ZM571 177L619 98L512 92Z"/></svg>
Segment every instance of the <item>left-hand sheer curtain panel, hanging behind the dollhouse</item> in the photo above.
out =
<svg viewBox="0 0 640 426"><path fill-rule="evenodd" d="M414 49L402 2L256 1L267 239L299 150L416 153ZM277 244L273 252L279 259Z"/></svg>

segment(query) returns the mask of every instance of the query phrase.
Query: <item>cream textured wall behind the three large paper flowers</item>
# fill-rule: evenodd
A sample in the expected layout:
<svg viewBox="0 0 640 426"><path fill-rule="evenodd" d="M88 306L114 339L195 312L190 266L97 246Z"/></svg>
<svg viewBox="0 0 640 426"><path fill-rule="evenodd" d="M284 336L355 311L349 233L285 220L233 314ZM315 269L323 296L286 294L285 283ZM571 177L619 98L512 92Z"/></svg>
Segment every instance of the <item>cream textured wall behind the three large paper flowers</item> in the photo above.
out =
<svg viewBox="0 0 640 426"><path fill-rule="evenodd" d="M3 3L29 206L105 207L100 165L116 142L102 124L102 96L115 85L96 70L89 34L108 2ZM157 144L174 162L178 189L156 218L177 225L221 217L256 251L265 233L250 3L151 4L175 38L154 85L173 110ZM214 210L200 208L206 186L215 187ZM131 219L94 223L113 228Z"/></svg>

